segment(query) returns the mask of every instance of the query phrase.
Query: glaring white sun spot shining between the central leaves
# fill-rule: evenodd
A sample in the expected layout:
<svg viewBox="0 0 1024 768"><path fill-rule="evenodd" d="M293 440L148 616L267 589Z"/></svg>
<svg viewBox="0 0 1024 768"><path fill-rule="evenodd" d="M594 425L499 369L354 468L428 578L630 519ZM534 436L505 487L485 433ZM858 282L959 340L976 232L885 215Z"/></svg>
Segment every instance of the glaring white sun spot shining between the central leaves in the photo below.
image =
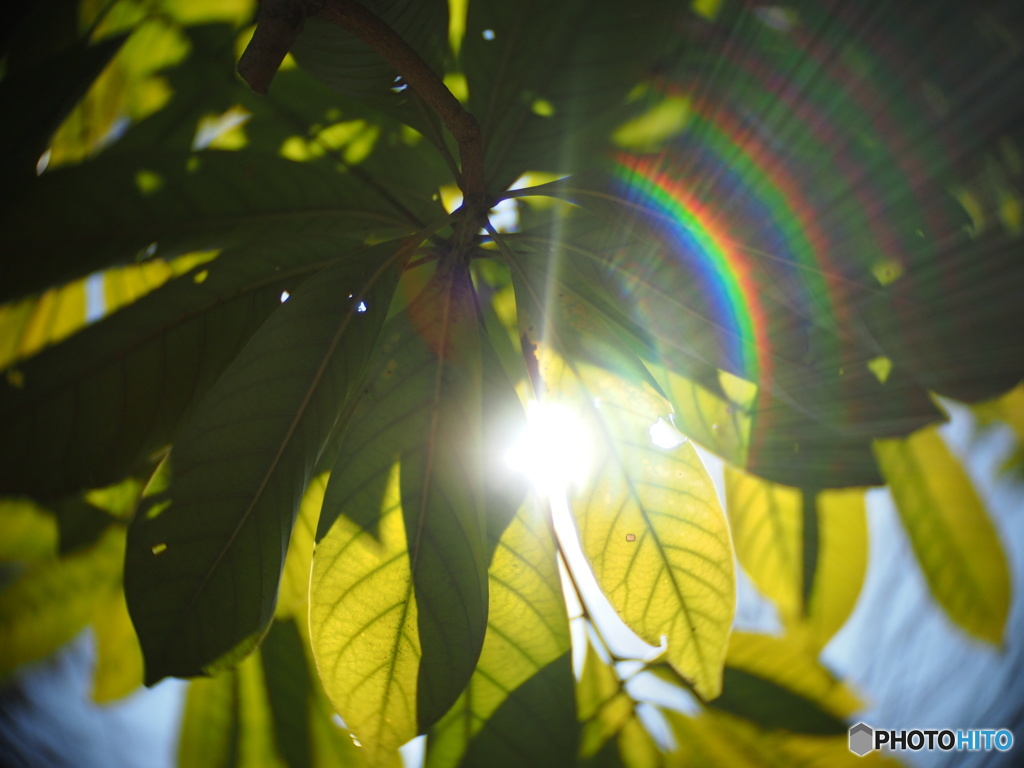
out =
<svg viewBox="0 0 1024 768"><path fill-rule="evenodd" d="M593 439L571 409L558 403L530 401L526 429L505 456L542 494L563 493L582 486L590 469Z"/></svg>

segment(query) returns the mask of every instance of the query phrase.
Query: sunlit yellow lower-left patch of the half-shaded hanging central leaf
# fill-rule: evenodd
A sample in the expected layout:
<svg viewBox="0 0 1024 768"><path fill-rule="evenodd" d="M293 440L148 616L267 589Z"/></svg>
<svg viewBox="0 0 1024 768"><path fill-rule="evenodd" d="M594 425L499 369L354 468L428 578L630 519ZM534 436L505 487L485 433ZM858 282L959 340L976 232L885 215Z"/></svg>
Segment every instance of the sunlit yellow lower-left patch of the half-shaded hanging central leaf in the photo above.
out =
<svg viewBox="0 0 1024 768"><path fill-rule="evenodd" d="M398 466L378 537L339 517L313 553L309 627L321 679L371 764L417 733L420 635ZM343 567L335 567L343 562Z"/></svg>

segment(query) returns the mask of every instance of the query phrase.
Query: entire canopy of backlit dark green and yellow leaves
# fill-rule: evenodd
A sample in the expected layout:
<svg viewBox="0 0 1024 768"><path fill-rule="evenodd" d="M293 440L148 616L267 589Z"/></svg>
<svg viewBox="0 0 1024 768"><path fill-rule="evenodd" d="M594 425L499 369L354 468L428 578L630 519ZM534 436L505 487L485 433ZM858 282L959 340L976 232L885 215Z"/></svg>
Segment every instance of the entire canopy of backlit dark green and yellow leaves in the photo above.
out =
<svg viewBox="0 0 1024 768"><path fill-rule="evenodd" d="M183 765L389 765L421 733L434 768L833 765L859 705L817 654L883 483L999 643L1006 559L934 395L1011 390L979 414L1020 432L1012 9L364 5L475 116L484 189L417 73L326 18L265 96L233 74L249 2L4 25L0 672L91 623L101 700L213 675ZM897 44L895 77L867 51ZM654 660L583 595L573 675L583 566L502 461L531 400L585 425L572 518ZM730 637L734 556L784 637ZM693 703L657 740L650 678Z"/></svg>

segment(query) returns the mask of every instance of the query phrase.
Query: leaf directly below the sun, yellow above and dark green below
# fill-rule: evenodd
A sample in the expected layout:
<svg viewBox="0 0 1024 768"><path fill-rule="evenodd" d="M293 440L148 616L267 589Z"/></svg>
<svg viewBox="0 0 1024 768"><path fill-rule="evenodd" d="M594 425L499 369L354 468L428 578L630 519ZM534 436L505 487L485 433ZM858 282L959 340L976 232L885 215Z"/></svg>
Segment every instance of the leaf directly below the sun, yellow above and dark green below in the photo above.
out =
<svg viewBox="0 0 1024 768"><path fill-rule="evenodd" d="M579 726L556 558L547 510L529 501L497 542L480 660L430 731L427 768L571 762Z"/></svg>

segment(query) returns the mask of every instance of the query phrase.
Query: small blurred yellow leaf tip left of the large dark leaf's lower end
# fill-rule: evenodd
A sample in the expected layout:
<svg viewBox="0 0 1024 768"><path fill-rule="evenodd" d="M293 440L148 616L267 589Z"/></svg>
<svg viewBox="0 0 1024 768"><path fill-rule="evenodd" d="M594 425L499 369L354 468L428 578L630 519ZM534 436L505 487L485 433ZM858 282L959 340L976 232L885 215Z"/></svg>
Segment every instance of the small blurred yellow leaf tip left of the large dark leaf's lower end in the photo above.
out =
<svg viewBox="0 0 1024 768"><path fill-rule="evenodd" d="M96 636L92 699L103 703L127 696L142 685L142 649L120 584L96 606L92 632Z"/></svg>

